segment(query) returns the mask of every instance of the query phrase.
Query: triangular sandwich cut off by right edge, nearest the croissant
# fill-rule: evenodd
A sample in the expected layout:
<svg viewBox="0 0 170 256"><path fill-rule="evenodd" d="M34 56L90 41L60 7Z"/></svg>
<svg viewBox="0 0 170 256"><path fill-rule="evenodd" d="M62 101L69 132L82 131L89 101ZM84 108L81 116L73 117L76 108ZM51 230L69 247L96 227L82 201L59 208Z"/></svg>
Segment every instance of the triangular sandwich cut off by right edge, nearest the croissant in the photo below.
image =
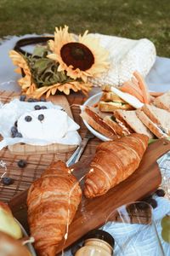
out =
<svg viewBox="0 0 170 256"><path fill-rule="evenodd" d="M156 137L170 136L170 113L167 110L144 104L142 108L136 110L136 114Z"/></svg>

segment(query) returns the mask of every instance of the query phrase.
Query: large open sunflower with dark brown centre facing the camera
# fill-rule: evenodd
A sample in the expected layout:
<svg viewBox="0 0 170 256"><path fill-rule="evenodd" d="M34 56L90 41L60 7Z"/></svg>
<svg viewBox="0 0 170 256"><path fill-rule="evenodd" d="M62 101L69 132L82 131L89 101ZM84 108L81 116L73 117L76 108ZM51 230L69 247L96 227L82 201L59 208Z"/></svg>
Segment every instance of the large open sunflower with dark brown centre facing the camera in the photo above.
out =
<svg viewBox="0 0 170 256"><path fill-rule="evenodd" d="M108 52L88 31L76 39L68 32L68 26L55 30L54 40L48 41L53 52L48 58L59 62L58 71L66 71L72 79L87 82L88 77L99 77L109 68Z"/></svg>

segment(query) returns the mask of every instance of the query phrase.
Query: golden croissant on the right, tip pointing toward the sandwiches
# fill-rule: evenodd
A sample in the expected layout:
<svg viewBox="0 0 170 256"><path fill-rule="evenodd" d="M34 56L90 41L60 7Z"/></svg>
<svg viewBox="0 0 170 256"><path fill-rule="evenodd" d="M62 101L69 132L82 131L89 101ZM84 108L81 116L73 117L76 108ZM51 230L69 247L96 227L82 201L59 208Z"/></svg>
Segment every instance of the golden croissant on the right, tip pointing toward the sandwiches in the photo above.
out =
<svg viewBox="0 0 170 256"><path fill-rule="evenodd" d="M99 144L85 179L86 197L104 195L129 177L138 168L148 140L144 134L133 133L128 137Z"/></svg>

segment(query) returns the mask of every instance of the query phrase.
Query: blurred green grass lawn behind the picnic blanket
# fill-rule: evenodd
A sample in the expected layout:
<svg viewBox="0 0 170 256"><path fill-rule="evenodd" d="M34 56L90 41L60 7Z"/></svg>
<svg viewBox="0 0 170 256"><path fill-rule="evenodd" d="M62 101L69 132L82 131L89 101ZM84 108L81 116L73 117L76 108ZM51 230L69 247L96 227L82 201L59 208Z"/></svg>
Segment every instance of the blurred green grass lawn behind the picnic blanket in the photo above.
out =
<svg viewBox="0 0 170 256"><path fill-rule="evenodd" d="M170 57L169 0L0 0L0 38L26 33L99 32L149 38L157 55Z"/></svg>

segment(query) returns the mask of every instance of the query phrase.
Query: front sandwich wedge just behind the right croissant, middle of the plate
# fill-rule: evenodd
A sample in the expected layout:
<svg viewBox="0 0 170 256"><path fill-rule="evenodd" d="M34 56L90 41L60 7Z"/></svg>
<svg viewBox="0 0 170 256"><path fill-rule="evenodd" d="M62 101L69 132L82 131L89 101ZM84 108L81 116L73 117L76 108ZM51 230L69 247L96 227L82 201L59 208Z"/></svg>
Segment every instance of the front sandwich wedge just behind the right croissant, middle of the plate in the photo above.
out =
<svg viewBox="0 0 170 256"><path fill-rule="evenodd" d="M118 109L114 111L114 116L118 125L122 127L124 135L131 134L133 132L142 133L147 135L149 138L153 138L154 135L150 130L143 124L138 118L136 111L125 111Z"/></svg>

